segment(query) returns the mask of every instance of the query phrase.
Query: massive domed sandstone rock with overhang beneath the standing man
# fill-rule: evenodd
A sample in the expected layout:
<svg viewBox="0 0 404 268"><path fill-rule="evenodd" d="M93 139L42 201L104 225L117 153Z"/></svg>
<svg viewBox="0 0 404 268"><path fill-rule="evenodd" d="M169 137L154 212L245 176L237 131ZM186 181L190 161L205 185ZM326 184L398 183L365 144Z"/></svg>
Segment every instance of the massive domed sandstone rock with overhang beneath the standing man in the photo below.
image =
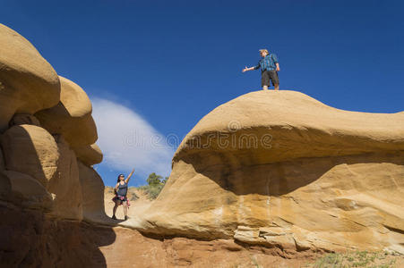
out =
<svg viewBox="0 0 404 268"><path fill-rule="evenodd" d="M135 225L283 250L404 253L404 113L342 111L296 91L220 105L178 147Z"/></svg>

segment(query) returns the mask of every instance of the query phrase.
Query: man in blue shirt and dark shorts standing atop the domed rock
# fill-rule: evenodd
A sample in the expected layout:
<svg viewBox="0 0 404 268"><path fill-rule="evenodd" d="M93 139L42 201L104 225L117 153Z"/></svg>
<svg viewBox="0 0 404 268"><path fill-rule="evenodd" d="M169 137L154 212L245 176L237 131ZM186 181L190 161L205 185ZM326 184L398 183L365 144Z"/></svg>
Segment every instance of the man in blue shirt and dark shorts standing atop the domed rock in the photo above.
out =
<svg viewBox="0 0 404 268"><path fill-rule="evenodd" d="M243 72L253 71L257 70L258 68L261 68L262 89L268 90L268 87L271 86L271 80L272 80L272 85L275 88L275 90L279 90L278 71L280 71L280 69L279 69L278 57L276 56L276 54L273 53L269 54L268 50L266 49L260 49L259 51L262 56L262 59L254 67L248 68L247 66L245 66Z"/></svg>

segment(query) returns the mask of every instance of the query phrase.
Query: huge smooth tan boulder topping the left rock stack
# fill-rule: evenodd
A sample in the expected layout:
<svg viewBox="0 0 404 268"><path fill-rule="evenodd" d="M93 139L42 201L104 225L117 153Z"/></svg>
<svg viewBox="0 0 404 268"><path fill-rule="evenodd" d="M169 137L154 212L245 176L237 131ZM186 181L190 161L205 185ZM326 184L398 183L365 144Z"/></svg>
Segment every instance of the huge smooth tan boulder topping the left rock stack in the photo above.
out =
<svg viewBox="0 0 404 268"><path fill-rule="evenodd" d="M56 71L30 42L0 24L0 132L14 113L36 113L56 105Z"/></svg>

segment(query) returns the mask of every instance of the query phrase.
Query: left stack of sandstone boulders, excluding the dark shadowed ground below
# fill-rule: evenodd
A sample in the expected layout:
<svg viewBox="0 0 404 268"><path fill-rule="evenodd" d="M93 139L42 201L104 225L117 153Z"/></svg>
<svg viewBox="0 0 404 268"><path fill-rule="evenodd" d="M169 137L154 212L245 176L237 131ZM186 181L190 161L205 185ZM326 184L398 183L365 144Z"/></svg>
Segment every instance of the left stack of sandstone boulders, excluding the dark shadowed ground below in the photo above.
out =
<svg viewBox="0 0 404 268"><path fill-rule="evenodd" d="M5 204L82 221L84 181L86 207L90 203L104 213L102 180L90 168L79 172L77 160L102 161L91 109L82 88L59 80L28 40L0 24L0 198ZM99 195L89 185L102 188Z"/></svg>

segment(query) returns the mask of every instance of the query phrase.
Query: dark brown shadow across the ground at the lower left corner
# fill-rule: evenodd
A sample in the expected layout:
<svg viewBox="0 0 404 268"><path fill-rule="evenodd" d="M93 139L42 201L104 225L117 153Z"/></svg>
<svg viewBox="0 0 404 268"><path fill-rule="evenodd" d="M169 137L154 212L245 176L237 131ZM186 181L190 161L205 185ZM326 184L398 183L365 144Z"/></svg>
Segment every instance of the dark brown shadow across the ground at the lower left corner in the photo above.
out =
<svg viewBox="0 0 404 268"><path fill-rule="evenodd" d="M107 267L99 247L116 240L112 228L5 203L0 218L0 267Z"/></svg>

